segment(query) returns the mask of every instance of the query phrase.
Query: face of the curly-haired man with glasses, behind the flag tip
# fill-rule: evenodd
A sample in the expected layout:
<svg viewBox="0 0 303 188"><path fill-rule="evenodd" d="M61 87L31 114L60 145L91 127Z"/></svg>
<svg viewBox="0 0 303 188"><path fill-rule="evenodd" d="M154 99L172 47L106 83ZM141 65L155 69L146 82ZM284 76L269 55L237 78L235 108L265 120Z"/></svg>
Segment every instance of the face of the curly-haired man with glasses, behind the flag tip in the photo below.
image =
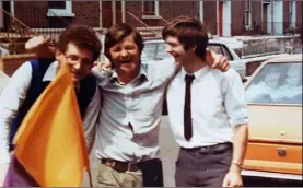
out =
<svg viewBox="0 0 303 188"><path fill-rule="evenodd" d="M72 43L68 44L66 52L57 50L56 59L59 63L69 64L74 83L88 75L93 68L93 52Z"/></svg>

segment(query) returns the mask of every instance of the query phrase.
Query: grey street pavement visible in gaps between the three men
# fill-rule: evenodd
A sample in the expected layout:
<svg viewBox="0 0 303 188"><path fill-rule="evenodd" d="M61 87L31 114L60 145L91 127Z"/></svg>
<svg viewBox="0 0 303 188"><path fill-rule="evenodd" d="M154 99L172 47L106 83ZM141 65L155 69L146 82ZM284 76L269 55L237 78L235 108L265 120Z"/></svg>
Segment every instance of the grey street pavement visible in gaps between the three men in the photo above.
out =
<svg viewBox="0 0 303 188"><path fill-rule="evenodd" d="M175 174L175 161L178 153L178 145L176 144L170 122L168 116L162 116L162 122L160 126L160 154L163 162L163 175L164 175L164 186L174 187L174 174ZM93 185L96 185L97 175L97 163L98 161L94 156L94 150L91 154L91 172ZM89 186L88 173L84 173L83 187Z"/></svg>

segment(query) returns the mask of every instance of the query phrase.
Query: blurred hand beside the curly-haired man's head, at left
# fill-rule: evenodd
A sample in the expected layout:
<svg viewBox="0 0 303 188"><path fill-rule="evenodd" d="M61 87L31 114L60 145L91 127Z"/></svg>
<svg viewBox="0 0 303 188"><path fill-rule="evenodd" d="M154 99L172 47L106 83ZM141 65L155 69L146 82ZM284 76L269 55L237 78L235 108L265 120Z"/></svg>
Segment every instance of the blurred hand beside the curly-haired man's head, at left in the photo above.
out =
<svg viewBox="0 0 303 188"><path fill-rule="evenodd" d="M25 49L38 58L55 58L55 46L50 36L34 36L25 43Z"/></svg>

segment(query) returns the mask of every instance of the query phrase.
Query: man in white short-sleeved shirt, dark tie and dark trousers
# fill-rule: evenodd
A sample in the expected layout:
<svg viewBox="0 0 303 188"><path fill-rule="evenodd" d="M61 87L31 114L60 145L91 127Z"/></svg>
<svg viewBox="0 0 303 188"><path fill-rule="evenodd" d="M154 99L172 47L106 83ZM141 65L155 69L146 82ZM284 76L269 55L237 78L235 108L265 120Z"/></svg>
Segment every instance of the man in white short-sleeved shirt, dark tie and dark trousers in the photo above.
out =
<svg viewBox="0 0 303 188"><path fill-rule="evenodd" d="M167 87L170 121L180 145L176 186L243 186L248 115L240 75L208 67L208 35L200 21L179 16L162 36L182 66Z"/></svg>

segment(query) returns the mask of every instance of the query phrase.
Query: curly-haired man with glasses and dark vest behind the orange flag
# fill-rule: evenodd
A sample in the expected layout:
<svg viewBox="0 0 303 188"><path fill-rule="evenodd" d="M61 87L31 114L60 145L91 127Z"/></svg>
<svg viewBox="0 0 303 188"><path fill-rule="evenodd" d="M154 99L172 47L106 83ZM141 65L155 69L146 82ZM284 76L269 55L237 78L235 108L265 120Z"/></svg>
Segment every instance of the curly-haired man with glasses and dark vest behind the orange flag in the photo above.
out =
<svg viewBox="0 0 303 188"><path fill-rule="evenodd" d="M91 74L91 69L100 52L101 43L92 27L71 25L59 37L55 52L56 60L30 60L14 72L0 96L0 185L2 185L10 163L9 151L13 152L14 150L12 140L22 119L39 94L56 77L62 63L68 63L70 67L86 144L92 145L95 136L94 128L101 110L101 94L95 84L96 80ZM10 142L9 148L7 138ZM18 185L16 180L11 186Z"/></svg>

